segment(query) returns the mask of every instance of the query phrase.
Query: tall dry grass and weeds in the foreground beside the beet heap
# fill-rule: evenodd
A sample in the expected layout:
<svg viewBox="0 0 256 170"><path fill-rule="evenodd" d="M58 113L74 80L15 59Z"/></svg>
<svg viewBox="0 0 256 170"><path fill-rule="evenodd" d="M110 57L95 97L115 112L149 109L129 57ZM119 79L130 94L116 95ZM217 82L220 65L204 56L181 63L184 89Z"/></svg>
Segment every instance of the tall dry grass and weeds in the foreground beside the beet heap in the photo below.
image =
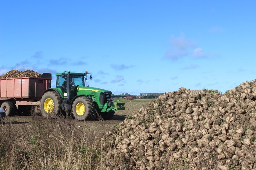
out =
<svg viewBox="0 0 256 170"><path fill-rule="evenodd" d="M11 123L0 125L0 169L108 169L93 132L37 117L23 130L21 136Z"/></svg>

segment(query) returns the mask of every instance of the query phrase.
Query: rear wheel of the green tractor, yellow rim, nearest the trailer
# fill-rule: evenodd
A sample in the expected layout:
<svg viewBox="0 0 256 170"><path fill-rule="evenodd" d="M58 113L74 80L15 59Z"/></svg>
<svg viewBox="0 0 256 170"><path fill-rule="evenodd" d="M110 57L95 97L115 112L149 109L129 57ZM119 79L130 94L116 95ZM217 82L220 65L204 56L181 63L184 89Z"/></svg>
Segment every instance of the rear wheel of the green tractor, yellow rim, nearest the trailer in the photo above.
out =
<svg viewBox="0 0 256 170"><path fill-rule="evenodd" d="M41 111L45 118L57 118L61 113L60 97L54 91L46 92L41 99Z"/></svg>

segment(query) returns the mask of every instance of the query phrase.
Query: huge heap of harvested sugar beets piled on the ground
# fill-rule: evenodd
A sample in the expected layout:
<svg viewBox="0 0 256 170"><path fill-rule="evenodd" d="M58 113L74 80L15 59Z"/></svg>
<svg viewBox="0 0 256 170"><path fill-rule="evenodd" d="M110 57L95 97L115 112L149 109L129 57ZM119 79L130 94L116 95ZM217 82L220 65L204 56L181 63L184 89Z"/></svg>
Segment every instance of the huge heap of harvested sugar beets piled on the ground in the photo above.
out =
<svg viewBox="0 0 256 170"><path fill-rule="evenodd" d="M115 169L255 170L255 100L256 80L165 93L106 133L103 154Z"/></svg>

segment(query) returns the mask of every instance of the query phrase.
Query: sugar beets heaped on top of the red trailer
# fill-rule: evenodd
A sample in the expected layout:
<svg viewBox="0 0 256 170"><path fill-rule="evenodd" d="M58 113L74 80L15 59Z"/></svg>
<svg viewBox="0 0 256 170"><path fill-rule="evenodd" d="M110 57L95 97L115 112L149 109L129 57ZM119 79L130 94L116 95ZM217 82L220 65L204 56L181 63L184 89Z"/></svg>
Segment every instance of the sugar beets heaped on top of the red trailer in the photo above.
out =
<svg viewBox="0 0 256 170"><path fill-rule="evenodd" d="M25 70L25 71L11 70L4 75L0 75L0 78L40 77L40 76L41 74L33 70Z"/></svg>

